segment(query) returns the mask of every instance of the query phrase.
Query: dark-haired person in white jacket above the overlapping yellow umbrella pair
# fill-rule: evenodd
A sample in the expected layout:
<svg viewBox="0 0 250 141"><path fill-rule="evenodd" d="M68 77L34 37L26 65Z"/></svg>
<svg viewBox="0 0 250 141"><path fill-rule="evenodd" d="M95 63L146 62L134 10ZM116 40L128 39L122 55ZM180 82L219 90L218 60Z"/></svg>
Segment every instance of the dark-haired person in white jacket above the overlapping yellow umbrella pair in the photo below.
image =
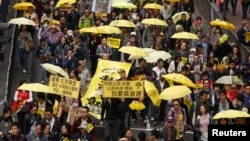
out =
<svg viewBox="0 0 250 141"><path fill-rule="evenodd" d="M181 72L182 66L184 66L184 64L181 62L181 56L176 55L174 60L172 60L169 64L168 73L179 73Z"/></svg>

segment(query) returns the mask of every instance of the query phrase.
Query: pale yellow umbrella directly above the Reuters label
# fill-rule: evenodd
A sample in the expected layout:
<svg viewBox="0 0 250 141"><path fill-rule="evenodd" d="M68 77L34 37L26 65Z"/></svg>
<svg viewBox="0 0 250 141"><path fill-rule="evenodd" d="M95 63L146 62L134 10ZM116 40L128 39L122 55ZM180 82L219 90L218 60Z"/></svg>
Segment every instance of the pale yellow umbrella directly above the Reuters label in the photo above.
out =
<svg viewBox="0 0 250 141"><path fill-rule="evenodd" d="M239 110L226 110L226 111L221 111L217 113L213 119L221 119L221 118L228 118L228 119L233 119L233 118L249 118L250 115L245 112L245 111L239 111Z"/></svg>

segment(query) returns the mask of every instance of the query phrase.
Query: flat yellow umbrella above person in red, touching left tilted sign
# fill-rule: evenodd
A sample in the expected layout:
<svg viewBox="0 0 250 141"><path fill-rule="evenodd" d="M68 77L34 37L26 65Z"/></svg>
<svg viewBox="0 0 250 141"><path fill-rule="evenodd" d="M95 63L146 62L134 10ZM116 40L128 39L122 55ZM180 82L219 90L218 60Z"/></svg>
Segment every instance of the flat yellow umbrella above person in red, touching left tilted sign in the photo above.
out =
<svg viewBox="0 0 250 141"><path fill-rule="evenodd" d="M53 88L43 85L40 83L25 83L17 88L18 90L24 90L24 91L33 91L33 92L43 92L43 93L54 93L56 92L53 90Z"/></svg>

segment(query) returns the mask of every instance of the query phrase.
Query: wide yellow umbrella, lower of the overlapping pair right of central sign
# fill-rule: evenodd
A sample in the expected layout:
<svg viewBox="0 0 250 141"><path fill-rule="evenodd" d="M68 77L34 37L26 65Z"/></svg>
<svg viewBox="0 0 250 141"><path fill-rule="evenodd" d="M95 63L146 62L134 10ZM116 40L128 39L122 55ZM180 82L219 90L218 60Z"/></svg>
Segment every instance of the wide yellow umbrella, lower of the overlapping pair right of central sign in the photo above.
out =
<svg viewBox="0 0 250 141"><path fill-rule="evenodd" d="M171 100L184 97L191 94L192 91L187 86L172 86L168 87L161 92L159 98L164 100Z"/></svg>

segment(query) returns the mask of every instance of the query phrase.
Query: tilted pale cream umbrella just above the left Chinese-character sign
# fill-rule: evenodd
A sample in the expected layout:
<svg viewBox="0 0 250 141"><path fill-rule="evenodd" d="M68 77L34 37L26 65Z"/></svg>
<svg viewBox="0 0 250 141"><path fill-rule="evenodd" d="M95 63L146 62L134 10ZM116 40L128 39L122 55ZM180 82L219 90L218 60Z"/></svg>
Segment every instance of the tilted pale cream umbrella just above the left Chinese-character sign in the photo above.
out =
<svg viewBox="0 0 250 141"><path fill-rule="evenodd" d="M48 72L50 72L51 74L57 75L60 74L61 76L65 77L65 78L69 78L69 75L67 72L65 72L61 67L50 64L50 63L45 63L45 64L41 64L41 66L47 70Z"/></svg>

